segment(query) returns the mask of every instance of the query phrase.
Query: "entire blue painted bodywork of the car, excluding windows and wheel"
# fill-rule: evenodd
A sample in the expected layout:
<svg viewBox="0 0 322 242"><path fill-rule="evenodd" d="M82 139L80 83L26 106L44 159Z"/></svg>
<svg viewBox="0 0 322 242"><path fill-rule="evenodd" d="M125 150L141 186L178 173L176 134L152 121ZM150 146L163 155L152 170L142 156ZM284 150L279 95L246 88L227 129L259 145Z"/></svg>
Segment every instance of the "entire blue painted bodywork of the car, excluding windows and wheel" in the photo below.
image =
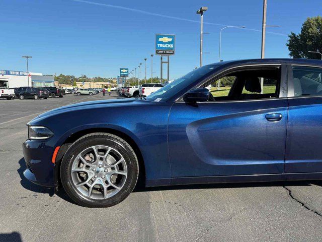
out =
<svg viewBox="0 0 322 242"><path fill-rule="evenodd" d="M303 59L222 62L214 64L216 68L207 77L241 65L292 63L322 66L321 61ZM39 115L28 125L48 127L54 136L23 144L25 176L43 186L57 185L57 166L51 162L55 147L77 132L110 129L137 145L144 161L146 186L322 178L322 98L285 95L195 106L178 101L201 81L190 83L166 102L92 101ZM286 78L281 81L286 82ZM267 115L271 114L281 114L282 118L268 122Z"/></svg>

